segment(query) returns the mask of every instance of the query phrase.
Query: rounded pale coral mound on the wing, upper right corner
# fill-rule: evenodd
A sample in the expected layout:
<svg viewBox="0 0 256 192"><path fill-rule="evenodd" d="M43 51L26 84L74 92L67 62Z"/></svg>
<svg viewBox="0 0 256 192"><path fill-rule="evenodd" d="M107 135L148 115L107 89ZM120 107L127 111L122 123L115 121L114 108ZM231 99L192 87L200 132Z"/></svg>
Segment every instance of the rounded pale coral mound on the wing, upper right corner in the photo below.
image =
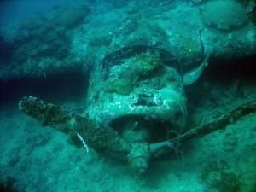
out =
<svg viewBox="0 0 256 192"><path fill-rule="evenodd" d="M230 30L247 23L245 7L230 0L211 1L203 5L201 16L207 26L218 30Z"/></svg>

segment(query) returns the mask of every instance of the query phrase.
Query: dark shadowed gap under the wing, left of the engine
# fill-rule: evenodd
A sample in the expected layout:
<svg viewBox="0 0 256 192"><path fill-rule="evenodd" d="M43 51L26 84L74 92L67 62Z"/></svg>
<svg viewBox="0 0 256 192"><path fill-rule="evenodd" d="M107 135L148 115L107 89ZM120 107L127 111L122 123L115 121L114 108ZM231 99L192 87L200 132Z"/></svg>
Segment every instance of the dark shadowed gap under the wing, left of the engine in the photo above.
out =
<svg viewBox="0 0 256 192"><path fill-rule="evenodd" d="M79 70L49 75L47 78L0 79L0 105L19 102L22 96L38 96L48 102L83 102L89 74Z"/></svg>

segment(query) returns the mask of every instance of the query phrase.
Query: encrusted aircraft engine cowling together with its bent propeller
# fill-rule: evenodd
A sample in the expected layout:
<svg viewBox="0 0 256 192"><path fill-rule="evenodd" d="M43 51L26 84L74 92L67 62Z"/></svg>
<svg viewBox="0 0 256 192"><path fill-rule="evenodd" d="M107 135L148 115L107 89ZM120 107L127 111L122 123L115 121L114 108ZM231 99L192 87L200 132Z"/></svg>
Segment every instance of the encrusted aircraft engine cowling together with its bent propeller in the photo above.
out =
<svg viewBox="0 0 256 192"><path fill-rule="evenodd" d="M128 161L140 174L150 159L255 111L256 102L247 102L206 125L188 127L184 88L199 78L207 59L182 74L173 55L146 50L126 48L102 61L90 79L85 116L33 96L21 99L20 110L66 133L78 147L88 144L100 154Z"/></svg>

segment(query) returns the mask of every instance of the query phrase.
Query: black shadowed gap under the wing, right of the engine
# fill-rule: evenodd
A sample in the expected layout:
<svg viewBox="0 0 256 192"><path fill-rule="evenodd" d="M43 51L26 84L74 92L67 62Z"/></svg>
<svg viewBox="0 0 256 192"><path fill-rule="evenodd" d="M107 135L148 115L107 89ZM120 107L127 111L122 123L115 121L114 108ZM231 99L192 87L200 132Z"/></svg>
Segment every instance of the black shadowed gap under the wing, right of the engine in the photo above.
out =
<svg viewBox="0 0 256 192"><path fill-rule="evenodd" d="M222 99L248 102L255 95L256 56L234 60L212 59L195 84L186 87L189 114L197 108L221 108ZM249 95L248 95L249 94Z"/></svg>

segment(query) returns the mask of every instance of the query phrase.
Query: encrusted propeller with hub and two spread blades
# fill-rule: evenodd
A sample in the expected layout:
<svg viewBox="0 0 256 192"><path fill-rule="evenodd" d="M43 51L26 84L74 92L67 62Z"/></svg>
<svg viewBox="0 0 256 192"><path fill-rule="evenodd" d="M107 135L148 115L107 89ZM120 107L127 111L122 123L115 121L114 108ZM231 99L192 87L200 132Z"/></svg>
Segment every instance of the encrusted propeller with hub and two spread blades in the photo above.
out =
<svg viewBox="0 0 256 192"><path fill-rule="evenodd" d="M172 149L189 139L203 137L212 131L224 129L226 125L236 122L241 117L255 113L256 101L244 103L206 125L195 127L160 143L127 142L119 136L117 131L109 127L98 127L88 117L69 112L54 104L45 103L37 97L22 98L19 107L24 113L38 119L42 125L51 126L56 131L66 133L74 143L77 143L74 135L79 133L98 153L127 160L133 170L143 173L148 169L148 162L151 158L170 153Z"/></svg>

